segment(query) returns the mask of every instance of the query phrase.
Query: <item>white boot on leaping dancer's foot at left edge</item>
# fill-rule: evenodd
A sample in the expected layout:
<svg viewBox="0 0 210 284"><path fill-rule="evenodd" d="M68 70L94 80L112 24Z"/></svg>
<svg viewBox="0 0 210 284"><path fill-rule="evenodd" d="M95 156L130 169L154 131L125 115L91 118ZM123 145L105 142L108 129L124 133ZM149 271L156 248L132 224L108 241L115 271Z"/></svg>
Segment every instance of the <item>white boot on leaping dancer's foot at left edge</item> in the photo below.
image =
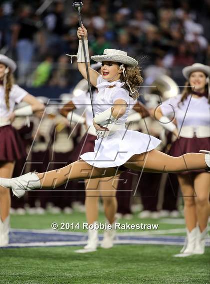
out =
<svg viewBox="0 0 210 284"><path fill-rule="evenodd" d="M17 178L0 178L0 185L11 188L15 196L22 197L26 190L40 188L41 182L39 177L34 172L29 172Z"/></svg>

